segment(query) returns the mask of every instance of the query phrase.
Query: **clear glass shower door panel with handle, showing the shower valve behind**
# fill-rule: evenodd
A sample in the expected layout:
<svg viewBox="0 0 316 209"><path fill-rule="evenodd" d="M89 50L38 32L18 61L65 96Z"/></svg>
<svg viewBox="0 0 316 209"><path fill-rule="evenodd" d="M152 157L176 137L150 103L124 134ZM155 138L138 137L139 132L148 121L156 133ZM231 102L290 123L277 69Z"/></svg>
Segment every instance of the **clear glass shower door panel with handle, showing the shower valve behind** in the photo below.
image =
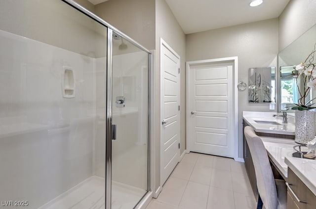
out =
<svg viewBox="0 0 316 209"><path fill-rule="evenodd" d="M133 209L148 191L148 53L112 37L111 208Z"/></svg>

